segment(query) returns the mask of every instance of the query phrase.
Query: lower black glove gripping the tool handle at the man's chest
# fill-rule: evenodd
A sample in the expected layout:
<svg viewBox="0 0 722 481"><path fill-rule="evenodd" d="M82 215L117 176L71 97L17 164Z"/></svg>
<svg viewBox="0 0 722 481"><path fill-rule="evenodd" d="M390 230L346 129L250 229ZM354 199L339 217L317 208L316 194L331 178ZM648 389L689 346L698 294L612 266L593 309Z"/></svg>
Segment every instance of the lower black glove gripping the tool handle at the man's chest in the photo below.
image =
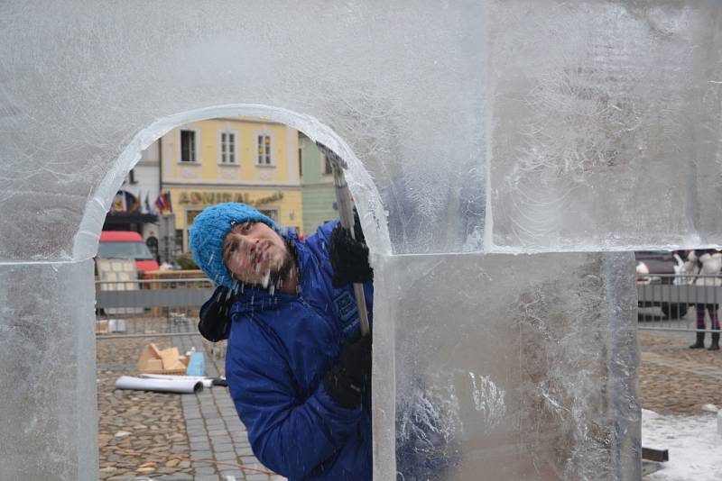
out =
<svg viewBox="0 0 722 481"><path fill-rule="evenodd" d="M361 404L371 388L371 336L341 351L338 363L323 378L323 386L334 401L348 409Z"/></svg>

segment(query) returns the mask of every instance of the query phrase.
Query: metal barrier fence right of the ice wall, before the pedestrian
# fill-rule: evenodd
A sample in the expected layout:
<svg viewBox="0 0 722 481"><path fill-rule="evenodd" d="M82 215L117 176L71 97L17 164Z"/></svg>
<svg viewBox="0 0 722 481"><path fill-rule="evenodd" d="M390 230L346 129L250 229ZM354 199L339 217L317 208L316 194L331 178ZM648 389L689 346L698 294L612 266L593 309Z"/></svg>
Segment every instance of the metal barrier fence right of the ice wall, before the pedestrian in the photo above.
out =
<svg viewBox="0 0 722 481"><path fill-rule="evenodd" d="M638 328L643 331L707 331L722 303L722 277L654 274L637 278ZM705 329L697 313L705 313Z"/></svg>

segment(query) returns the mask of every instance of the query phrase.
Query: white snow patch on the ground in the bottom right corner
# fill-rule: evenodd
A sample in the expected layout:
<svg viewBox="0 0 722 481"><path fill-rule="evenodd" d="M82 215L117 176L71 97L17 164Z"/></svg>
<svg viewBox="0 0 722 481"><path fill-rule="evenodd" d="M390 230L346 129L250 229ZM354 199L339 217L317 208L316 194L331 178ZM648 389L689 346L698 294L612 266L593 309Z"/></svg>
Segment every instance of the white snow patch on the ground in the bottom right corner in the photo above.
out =
<svg viewBox="0 0 722 481"><path fill-rule="evenodd" d="M722 479L722 436L717 415L662 416L642 410L642 445L669 449L670 460L644 481L719 481Z"/></svg>

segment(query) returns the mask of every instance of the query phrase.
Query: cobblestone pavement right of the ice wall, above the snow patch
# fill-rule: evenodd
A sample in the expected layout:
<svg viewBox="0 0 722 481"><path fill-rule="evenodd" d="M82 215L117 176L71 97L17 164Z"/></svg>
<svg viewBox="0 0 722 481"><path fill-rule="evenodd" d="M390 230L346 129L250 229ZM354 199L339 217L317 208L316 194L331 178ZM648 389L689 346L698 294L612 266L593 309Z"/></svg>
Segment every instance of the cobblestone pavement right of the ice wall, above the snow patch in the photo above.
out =
<svg viewBox="0 0 722 481"><path fill-rule="evenodd" d="M639 331L643 408L679 415L704 413L703 404L722 408L722 351L689 349L694 336L693 332Z"/></svg>

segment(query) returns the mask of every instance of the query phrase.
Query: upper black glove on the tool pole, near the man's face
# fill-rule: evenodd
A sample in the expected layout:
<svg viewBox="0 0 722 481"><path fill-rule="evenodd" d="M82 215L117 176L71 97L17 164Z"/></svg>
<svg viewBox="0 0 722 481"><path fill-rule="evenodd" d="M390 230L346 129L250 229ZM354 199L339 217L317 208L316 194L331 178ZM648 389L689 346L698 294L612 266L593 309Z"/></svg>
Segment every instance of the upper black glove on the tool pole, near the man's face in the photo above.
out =
<svg viewBox="0 0 722 481"><path fill-rule="evenodd" d="M341 227L339 223L331 231L329 243L329 259L333 269L331 284L334 287L343 287L347 284L364 283L374 280L374 269L368 264L368 247L358 222L358 214L354 212L354 234Z"/></svg>

